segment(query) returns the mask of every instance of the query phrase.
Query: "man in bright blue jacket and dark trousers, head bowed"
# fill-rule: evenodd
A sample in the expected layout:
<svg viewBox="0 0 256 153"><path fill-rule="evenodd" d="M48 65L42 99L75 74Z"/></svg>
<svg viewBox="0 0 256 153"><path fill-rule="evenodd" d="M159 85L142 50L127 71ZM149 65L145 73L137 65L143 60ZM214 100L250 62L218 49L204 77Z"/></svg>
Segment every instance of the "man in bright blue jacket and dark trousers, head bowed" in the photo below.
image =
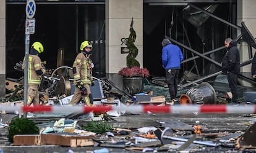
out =
<svg viewBox="0 0 256 153"><path fill-rule="evenodd" d="M177 45L171 44L167 38L163 39L162 46L162 64L165 69L166 83L169 87L171 100L176 101L174 98L177 95L179 69L181 69L183 55L181 49Z"/></svg>

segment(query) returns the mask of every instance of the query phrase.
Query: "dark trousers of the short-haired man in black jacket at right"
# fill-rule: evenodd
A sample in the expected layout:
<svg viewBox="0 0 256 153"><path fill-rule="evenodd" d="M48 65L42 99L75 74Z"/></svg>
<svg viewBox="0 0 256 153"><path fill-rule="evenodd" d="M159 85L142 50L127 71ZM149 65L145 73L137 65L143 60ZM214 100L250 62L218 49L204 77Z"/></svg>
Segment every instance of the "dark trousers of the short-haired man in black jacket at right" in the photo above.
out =
<svg viewBox="0 0 256 153"><path fill-rule="evenodd" d="M237 91L237 74L227 73L228 76L228 84L232 93L232 103L238 103L238 91Z"/></svg>

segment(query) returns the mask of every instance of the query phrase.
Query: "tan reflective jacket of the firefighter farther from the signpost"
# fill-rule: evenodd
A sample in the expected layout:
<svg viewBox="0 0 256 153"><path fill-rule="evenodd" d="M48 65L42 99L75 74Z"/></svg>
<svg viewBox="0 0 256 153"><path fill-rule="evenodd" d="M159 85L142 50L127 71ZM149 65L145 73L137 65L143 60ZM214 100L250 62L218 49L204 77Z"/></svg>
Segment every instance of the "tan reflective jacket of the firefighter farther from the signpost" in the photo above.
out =
<svg viewBox="0 0 256 153"><path fill-rule="evenodd" d="M91 63L90 55L82 52L77 55L73 64L74 83L82 81L83 84L92 84Z"/></svg>

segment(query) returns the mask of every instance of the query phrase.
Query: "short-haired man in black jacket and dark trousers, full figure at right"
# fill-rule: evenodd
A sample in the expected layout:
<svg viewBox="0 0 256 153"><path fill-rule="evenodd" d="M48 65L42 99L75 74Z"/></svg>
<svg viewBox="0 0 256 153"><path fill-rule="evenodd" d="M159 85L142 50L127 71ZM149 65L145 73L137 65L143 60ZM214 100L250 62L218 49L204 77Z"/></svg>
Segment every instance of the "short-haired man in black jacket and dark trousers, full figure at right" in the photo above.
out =
<svg viewBox="0 0 256 153"><path fill-rule="evenodd" d="M240 73L240 53L237 49L237 42L231 38L227 38L225 41L225 47L228 50L223 57L222 71L228 76L229 88L232 93L232 103L237 104L238 92L237 92L237 77Z"/></svg>

